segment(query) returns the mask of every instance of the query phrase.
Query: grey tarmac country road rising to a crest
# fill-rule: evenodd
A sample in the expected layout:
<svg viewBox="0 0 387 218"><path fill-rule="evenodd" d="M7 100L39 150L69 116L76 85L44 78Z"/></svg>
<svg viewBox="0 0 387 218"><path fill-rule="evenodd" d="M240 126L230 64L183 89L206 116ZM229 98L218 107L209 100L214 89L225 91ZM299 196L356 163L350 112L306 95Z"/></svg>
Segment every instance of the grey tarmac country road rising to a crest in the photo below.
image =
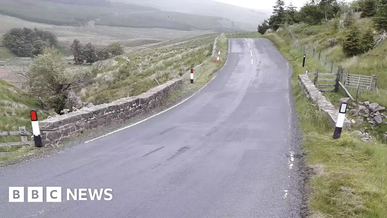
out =
<svg viewBox="0 0 387 218"><path fill-rule="evenodd" d="M0 172L2 218L297 218L291 68L267 39L231 39L199 93L138 125ZM9 186L111 188L111 201L8 202ZM27 197L25 197L27 199Z"/></svg>

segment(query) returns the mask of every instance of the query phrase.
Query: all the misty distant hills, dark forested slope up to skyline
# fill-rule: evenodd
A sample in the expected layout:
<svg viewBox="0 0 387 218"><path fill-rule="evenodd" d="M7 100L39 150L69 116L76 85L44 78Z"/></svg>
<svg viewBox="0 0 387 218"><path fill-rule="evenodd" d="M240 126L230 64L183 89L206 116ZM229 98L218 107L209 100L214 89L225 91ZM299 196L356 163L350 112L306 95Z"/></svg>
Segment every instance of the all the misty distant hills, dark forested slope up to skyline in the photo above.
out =
<svg viewBox="0 0 387 218"><path fill-rule="evenodd" d="M212 0L1 0L0 14L59 26L255 31L269 15ZM94 22L95 21L95 22Z"/></svg>

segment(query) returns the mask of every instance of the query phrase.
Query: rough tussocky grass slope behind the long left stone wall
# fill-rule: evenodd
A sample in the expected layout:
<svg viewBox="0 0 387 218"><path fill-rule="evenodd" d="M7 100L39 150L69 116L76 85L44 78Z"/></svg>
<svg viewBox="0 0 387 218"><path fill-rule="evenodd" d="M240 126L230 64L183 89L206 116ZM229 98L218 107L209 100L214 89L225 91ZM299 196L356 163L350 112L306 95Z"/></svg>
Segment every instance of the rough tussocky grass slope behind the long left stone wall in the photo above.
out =
<svg viewBox="0 0 387 218"><path fill-rule="evenodd" d="M97 72L94 82L80 91L82 98L94 104L107 103L139 95L158 86L158 82L178 78L209 59L215 37L202 36L174 46L164 45L118 56L116 66ZM123 56L131 60L130 64Z"/></svg>

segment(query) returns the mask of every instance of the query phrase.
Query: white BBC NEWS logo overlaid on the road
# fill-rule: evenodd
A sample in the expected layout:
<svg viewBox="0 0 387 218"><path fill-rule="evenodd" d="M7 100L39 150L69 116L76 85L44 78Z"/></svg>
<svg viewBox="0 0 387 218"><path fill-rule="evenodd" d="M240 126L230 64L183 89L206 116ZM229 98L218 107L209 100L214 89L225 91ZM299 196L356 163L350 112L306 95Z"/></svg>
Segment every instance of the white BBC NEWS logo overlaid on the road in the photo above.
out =
<svg viewBox="0 0 387 218"><path fill-rule="evenodd" d="M67 201L110 201L113 199L112 189L66 189ZM9 187L9 202L24 202L24 187ZM27 187L27 202L43 202L43 196L46 196L45 202L62 202L62 187Z"/></svg>

